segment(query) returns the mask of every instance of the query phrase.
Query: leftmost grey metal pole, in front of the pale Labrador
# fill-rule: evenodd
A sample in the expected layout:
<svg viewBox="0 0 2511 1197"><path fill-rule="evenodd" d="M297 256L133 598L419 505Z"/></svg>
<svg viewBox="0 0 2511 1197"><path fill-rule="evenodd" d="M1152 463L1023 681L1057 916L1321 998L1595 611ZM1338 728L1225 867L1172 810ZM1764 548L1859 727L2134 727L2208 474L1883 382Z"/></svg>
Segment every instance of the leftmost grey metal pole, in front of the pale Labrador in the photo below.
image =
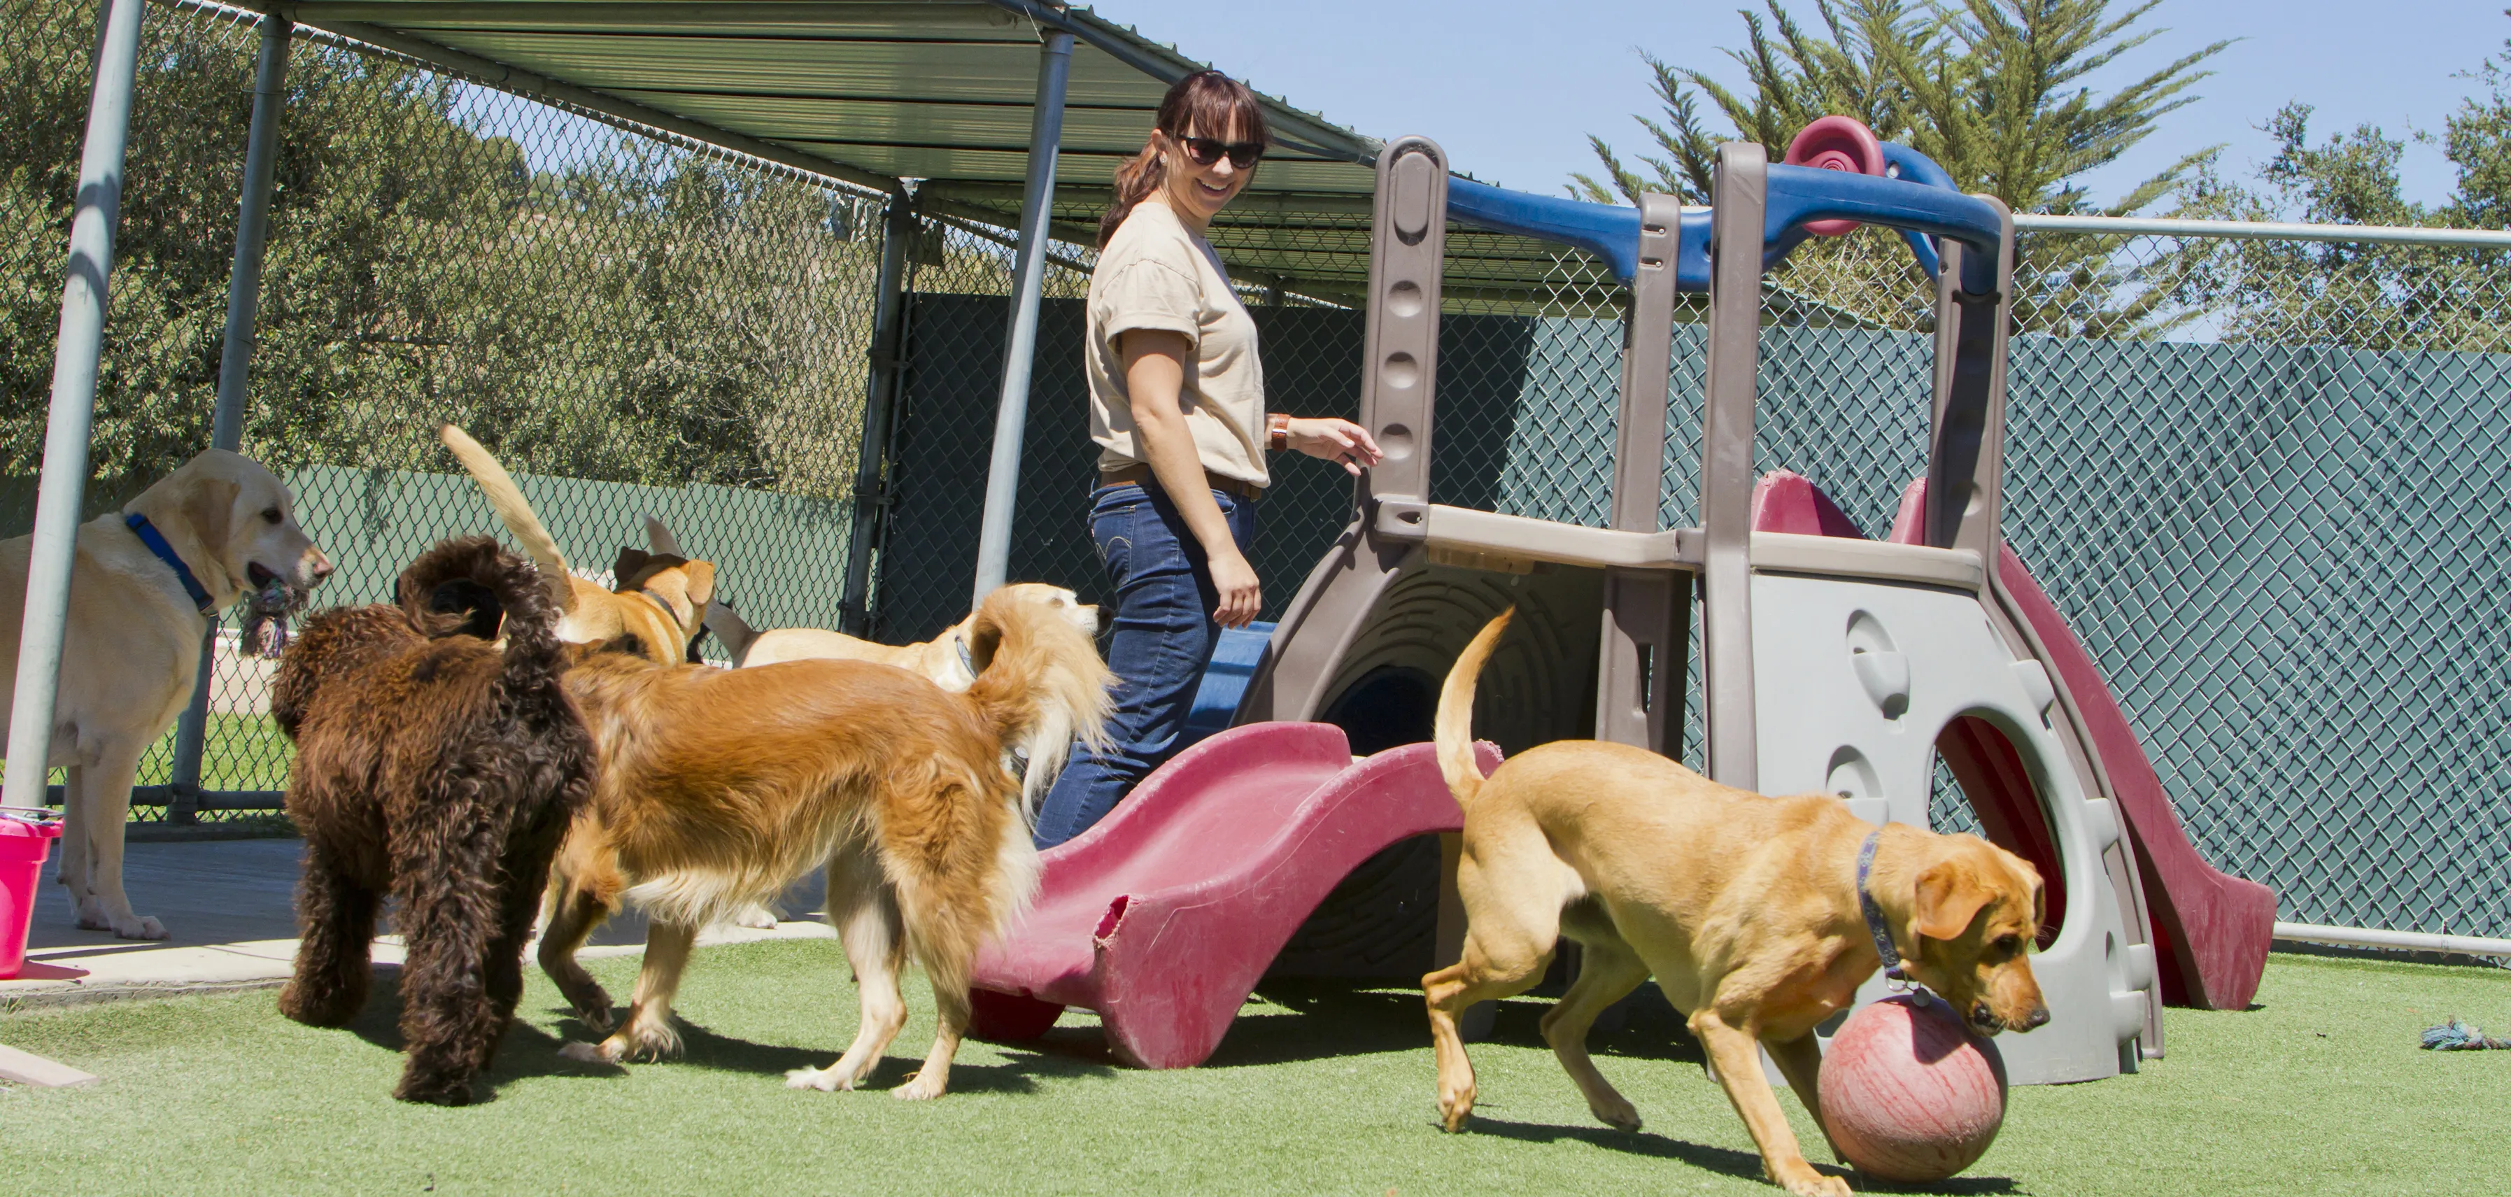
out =
<svg viewBox="0 0 2511 1197"><path fill-rule="evenodd" d="M53 700L60 680L60 637L70 620L78 509L88 492L88 434L95 419L95 374L105 351L105 284L113 276L113 226L123 211L123 143L131 133L141 13L143 0L105 0L95 35L95 90L88 93L88 141L78 156L78 211L70 216L60 336L53 344L53 412L43 434L43 482L35 487L25 625L18 635L8 773L0 783L5 806L43 806L43 775L53 753Z"/></svg>

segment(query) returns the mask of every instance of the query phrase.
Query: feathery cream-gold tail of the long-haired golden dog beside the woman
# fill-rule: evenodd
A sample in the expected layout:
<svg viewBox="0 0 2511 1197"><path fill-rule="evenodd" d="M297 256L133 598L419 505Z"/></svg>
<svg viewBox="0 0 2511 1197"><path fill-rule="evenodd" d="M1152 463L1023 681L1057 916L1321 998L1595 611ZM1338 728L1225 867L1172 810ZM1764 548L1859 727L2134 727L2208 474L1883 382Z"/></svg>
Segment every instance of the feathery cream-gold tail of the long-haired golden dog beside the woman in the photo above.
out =
<svg viewBox="0 0 2511 1197"><path fill-rule="evenodd" d="M1035 821L1037 801L1065 768L1072 743L1107 748L1115 673L1065 612L1024 602L1012 590L984 597L967 640L969 655L984 662L967 698L994 725L1004 750L1027 755L1019 806Z"/></svg>

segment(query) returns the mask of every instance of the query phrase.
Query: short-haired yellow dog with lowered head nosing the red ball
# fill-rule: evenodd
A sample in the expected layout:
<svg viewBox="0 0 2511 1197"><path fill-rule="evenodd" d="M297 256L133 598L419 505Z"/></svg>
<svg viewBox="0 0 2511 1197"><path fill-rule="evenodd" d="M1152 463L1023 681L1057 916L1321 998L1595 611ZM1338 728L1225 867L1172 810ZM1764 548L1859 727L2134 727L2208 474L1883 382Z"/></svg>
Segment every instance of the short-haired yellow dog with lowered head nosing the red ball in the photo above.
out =
<svg viewBox="0 0 2511 1197"><path fill-rule="evenodd" d="M1908 976L1981 1034L2049 1021L2026 949L2041 878L1976 836L1876 828L1831 795L1763 798L1642 748L1559 740L1489 778L1474 763L1474 680L1514 610L1456 657L1439 693L1439 770L1464 806L1464 959L1421 979L1439 1056L1439 1117L1464 1129L1474 1064L1456 1016L1544 976L1559 936L1582 966L1544 1014L1544 1041L1610 1127L1640 1114L1587 1059L1587 1026L1655 974L1707 1051L1760 1147L1763 1169L1803 1197L1848 1197L1805 1162L1760 1072L1758 1046L1820 1119L1815 1026L1878 966L1868 901ZM1873 871L1861 891L1861 851Z"/></svg>

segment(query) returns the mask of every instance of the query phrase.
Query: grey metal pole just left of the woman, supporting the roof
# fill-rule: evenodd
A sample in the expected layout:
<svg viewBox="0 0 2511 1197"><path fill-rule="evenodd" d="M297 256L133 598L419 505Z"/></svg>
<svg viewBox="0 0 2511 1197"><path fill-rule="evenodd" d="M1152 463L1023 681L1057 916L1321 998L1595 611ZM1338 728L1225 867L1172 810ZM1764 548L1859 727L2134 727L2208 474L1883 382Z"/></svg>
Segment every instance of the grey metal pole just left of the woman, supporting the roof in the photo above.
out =
<svg viewBox="0 0 2511 1197"><path fill-rule="evenodd" d="M1002 407L994 412L994 462L984 474L984 527L977 532L977 602L1012 565L1012 507L1019 499L1019 442L1030 427L1030 366L1037 356L1037 291L1047 274L1047 218L1055 213L1055 151L1065 141L1065 80L1072 35L1047 33L1037 58L1037 108L1030 118L1030 186L1019 198L1019 258L1012 271L1012 334L1002 354Z"/></svg>

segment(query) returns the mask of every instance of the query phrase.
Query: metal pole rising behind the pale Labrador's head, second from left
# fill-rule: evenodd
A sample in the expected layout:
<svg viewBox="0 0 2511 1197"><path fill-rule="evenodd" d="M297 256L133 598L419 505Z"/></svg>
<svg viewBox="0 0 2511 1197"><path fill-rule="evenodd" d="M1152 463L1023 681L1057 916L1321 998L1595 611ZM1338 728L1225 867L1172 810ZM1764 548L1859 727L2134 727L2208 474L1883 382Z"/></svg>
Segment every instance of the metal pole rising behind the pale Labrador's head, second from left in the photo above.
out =
<svg viewBox="0 0 2511 1197"><path fill-rule="evenodd" d="M218 349L218 409L208 427L211 449L244 447L244 394L254 364L254 314L261 309L261 246L271 228L271 166L279 161L279 110L286 103L289 43L296 23L279 13L261 18L261 55L254 60L254 125L244 143L244 198L236 203L236 261L226 271L226 341ZM216 685L218 620L201 637L201 670L191 705L173 725L173 775L166 785L166 821L201 818L201 750L208 740L208 690Z"/></svg>

